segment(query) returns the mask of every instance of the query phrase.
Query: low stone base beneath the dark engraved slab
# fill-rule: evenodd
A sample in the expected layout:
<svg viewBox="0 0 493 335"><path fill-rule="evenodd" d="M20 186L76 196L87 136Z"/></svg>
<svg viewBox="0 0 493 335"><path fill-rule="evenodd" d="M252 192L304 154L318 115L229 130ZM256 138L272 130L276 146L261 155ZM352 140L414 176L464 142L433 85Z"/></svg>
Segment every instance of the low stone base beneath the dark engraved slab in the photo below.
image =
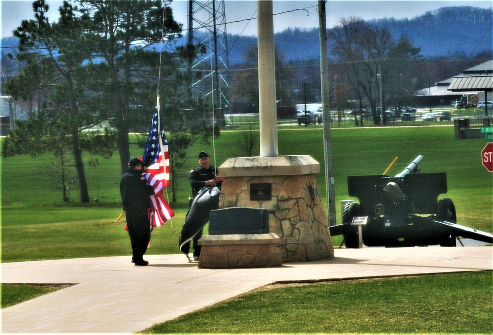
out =
<svg viewBox="0 0 493 335"><path fill-rule="evenodd" d="M279 236L269 234L204 235L199 268L266 268L282 265Z"/></svg>

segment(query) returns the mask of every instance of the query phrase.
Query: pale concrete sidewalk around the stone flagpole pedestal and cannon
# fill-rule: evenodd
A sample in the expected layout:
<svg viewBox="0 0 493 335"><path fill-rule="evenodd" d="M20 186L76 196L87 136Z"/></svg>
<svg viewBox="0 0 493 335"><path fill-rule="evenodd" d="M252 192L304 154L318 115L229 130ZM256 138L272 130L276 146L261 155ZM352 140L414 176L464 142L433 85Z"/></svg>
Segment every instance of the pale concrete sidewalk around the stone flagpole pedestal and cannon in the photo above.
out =
<svg viewBox="0 0 493 335"><path fill-rule="evenodd" d="M70 283L1 310L2 333L134 333L271 283L493 269L491 247L336 249L277 268L199 269L183 255L3 263L2 283Z"/></svg>

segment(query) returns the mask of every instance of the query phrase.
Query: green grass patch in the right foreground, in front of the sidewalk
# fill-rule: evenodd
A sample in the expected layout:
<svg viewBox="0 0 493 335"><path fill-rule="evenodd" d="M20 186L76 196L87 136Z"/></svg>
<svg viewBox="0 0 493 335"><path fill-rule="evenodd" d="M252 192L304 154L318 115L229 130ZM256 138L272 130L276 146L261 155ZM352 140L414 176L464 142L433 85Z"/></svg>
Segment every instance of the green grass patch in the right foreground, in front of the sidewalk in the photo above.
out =
<svg viewBox="0 0 493 335"><path fill-rule="evenodd" d="M261 289L144 331L155 334L492 334L492 272Z"/></svg>

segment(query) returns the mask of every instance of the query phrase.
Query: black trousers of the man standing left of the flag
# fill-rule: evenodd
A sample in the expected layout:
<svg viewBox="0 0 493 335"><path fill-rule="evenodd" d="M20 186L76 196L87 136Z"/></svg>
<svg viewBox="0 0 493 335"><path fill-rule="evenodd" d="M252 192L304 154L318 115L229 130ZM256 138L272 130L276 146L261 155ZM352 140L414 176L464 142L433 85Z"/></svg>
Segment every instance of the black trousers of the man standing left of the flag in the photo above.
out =
<svg viewBox="0 0 493 335"><path fill-rule="evenodd" d="M151 238L147 209L128 208L125 215L130 243L132 244L132 259L135 262L141 262Z"/></svg>

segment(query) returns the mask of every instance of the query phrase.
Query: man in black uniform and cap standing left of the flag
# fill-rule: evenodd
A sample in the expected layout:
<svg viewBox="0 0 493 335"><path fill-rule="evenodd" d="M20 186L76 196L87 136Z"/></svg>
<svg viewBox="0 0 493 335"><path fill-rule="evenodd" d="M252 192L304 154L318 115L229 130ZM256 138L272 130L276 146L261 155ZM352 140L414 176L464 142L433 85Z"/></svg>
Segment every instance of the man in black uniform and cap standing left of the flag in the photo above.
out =
<svg viewBox="0 0 493 335"><path fill-rule="evenodd" d="M122 206L127 218L128 234L132 244L132 263L136 266L146 266L149 262L143 260L151 237L147 209L152 205L150 195L154 190L142 176L143 163L133 157L128 161L128 170L120 180L120 195Z"/></svg>

